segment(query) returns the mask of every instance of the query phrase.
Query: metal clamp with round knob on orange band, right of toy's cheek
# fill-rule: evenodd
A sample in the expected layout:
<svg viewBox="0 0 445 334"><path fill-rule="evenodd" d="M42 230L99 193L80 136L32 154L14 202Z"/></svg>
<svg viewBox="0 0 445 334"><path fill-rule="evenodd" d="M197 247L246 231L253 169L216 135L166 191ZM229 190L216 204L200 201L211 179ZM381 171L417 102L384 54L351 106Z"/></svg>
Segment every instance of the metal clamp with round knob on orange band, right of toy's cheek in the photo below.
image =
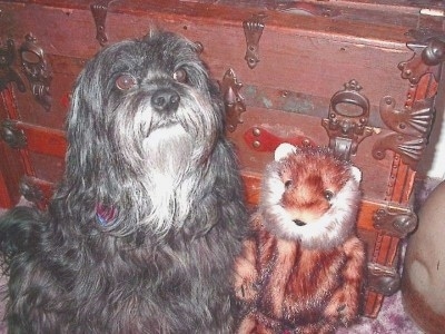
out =
<svg viewBox="0 0 445 334"><path fill-rule="evenodd" d="M379 208L373 216L373 225L386 235L406 237L417 227L417 216L406 208Z"/></svg>

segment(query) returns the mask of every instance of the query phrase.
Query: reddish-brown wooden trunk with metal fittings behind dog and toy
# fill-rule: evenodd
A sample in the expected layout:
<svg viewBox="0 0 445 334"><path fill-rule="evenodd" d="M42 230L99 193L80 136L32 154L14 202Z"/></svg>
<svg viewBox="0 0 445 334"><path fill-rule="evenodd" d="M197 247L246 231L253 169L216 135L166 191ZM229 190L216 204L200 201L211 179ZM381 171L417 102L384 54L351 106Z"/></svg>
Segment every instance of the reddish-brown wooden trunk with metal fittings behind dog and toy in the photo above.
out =
<svg viewBox="0 0 445 334"><path fill-rule="evenodd" d="M412 189L444 109L439 1L0 1L0 206L44 207L63 170L72 82L103 46L150 27L201 45L255 206L281 141L328 145L363 171L364 314L398 288Z"/></svg>

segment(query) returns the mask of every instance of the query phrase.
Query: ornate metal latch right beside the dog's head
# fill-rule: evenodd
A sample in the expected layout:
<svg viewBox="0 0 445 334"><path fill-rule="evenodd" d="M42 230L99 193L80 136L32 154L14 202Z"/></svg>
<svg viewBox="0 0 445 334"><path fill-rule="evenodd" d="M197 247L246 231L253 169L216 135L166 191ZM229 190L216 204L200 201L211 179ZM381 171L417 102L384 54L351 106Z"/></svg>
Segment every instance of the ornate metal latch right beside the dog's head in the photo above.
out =
<svg viewBox="0 0 445 334"><path fill-rule="evenodd" d="M219 88L226 107L227 129L233 132L238 124L243 122L241 114L246 111L243 96L239 94L243 84L238 81L235 71L230 68L219 82Z"/></svg>

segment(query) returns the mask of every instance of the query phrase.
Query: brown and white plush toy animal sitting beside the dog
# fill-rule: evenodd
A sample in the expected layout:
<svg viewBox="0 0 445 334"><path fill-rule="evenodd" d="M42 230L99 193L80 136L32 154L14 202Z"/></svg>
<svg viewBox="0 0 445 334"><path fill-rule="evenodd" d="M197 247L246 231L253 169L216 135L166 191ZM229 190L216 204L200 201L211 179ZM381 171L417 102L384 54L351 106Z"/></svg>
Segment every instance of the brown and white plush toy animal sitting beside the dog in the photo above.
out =
<svg viewBox="0 0 445 334"><path fill-rule="evenodd" d="M359 169L325 148L281 144L236 264L238 333L333 333L359 313Z"/></svg>

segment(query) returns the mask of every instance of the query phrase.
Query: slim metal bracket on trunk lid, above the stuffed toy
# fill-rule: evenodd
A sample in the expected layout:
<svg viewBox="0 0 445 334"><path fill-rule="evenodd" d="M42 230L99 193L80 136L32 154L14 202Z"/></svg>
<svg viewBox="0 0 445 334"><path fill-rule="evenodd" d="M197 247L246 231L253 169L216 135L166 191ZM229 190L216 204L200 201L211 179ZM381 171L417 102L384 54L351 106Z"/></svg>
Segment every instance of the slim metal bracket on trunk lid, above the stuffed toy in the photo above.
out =
<svg viewBox="0 0 445 334"><path fill-rule="evenodd" d="M249 20L243 22L244 35L246 36L246 56L244 59L247 66L254 69L259 61L259 39L261 38L265 28L265 13L254 14Z"/></svg>

